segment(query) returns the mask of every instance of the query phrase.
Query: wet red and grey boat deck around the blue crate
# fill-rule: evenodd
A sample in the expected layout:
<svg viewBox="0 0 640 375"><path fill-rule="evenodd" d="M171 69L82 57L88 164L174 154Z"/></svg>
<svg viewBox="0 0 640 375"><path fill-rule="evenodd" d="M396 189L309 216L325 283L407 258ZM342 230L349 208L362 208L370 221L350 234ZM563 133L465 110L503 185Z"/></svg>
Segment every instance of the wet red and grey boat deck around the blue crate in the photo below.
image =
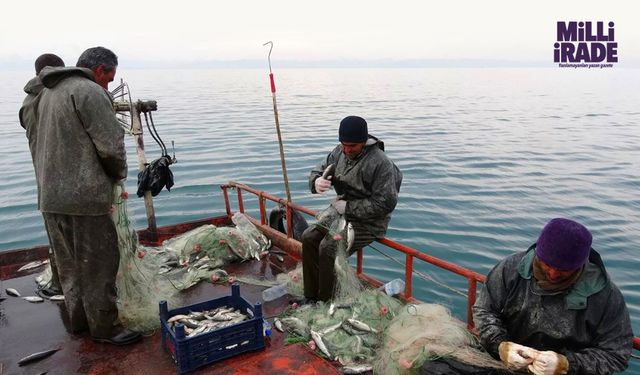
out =
<svg viewBox="0 0 640 375"><path fill-rule="evenodd" d="M6 266L6 265L5 265ZM273 280L280 272L289 271L296 261L285 257L280 263L274 257L260 261L233 264L226 267L231 276L263 277ZM45 301L30 303L7 296L4 290L14 288L23 296L35 295L34 277L42 267L23 272L1 282L0 302L0 375L4 374L175 374L171 356L162 349L160 334L145 337L141 342L124 347L94 343L88 334L72 335L65 329L64 303ZM241 284L240 293L250 303L261 301L265 287ZM228 285L201 282L181 294L181 306L231 294ZM272 317L288 306L286 295L263 305L263 314ZM169 309L178 306L169 306ZM272 324L273 325L273 324ZM305 345L284 345L284 335L273 330L264 351L246 353L204 367L195 374L338 374L327 361L315 355ZM54 355L39 362L18 367L17 362L34 352L60 348Z"/></svg>

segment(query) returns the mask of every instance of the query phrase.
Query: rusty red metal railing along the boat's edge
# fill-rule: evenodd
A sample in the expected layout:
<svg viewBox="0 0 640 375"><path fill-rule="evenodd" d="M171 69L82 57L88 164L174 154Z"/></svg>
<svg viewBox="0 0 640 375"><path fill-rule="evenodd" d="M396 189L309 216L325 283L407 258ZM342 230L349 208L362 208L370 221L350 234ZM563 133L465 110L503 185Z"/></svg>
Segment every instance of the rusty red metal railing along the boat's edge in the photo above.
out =
<svg viewBox="0 0 640 375"><path fill-rule="evenodd" d="M265 203L267 200L278 203L282 206L286 207L286 220L287 220L287 239L288 240L292 240L292 233L293 233L293 224L292 224L292 213L291 213L291 209L295 209L296 211L299 212L304 212L308 215L311 216L316 216L316 211L311 210L309 208L306 208L304 206L292 203L292 202L288 202L286 199L282 199L279 197L276 197L274 195L265 193L263 191L260 190L256 190L250 186L241 184L241 183L237 183L237 182L229 182L225 185L221 185L220 188L222 189L223 192L223 196L224 196L224 202L225 202L225 206L226 206L226 211L227 211L227 215L231 216L232 215L232 210L231 210L231 205L229 202L229 194L228 194L228 189L235 189L237 194L238 194L238 210L242 213L244 213L244 200L242 197L242 192L246 191L248 193L254 194L256 196L258 196L258 205L260 208L260 225L262 226L267 226L267 212L266 212L266 206ZM404 292L404 298L406 300L415 300L413 298L413 261L414 259L419 259L422 260L426 263L432 264L436 267L442 268L444 270L453 272L457 275L460 275L464 278L467 279L467 327L470 330L474 329L474 323L473 323L473 313L472 313L472 307L476 302L476 295L477 295L477 287L478 287L478 283L484 283L486 277L480 273L477 273L475 271L471 271L469 269L466 269L464 267L458 266L454 263L451 262L447 262L446 260L442 260L440 258L436 258L434 256L431 255L427 255L425 253L422 253L412 247L403 245L401 243L392 241L388 238L382 238L377 240L377 242L388 246L396 251L399 251L403 254L405 254L405 292ZM366 275L363 272L363 265L364 265L364 252L362 251L362 249L359 249L357 251L357 263L356 263L356 273L358 274L359 277L373 282L374 284L381 284L380 281L372 278L371 276ZM640 350L640 338L639 337L634 337L633 338L633 347L637 350Z"/></svg>

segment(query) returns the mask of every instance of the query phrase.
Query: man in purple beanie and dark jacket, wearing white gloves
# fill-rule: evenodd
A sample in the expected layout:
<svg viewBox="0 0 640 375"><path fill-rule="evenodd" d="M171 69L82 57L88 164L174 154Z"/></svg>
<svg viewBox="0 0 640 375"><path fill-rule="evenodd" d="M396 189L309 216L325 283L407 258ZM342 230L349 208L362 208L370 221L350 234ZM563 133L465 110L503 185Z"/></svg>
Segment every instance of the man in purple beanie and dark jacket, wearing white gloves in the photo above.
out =
<svg viewBox="0 0 640 375"><path fill-rule="evenodd" d="M591 241L582 224L553 219L537 243L489 272L473 311L494 358L536 375L627 368L629 313Z"/></svg>

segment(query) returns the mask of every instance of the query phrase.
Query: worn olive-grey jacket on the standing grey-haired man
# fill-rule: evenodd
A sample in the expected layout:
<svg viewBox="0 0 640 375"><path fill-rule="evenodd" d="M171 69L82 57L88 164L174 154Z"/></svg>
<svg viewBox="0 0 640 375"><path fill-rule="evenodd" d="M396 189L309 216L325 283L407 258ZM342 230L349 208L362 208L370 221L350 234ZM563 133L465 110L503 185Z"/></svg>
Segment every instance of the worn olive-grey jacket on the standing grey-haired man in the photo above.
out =
<svg viewBox="0 0 640 375"><path fill-rule="evenodd" d="M113 182L127 176L124 130L110 97L89 69L45 67L38 77L45 89L36 99L37 121L23 122L38 208L67 215L109 213Z"/></svg>

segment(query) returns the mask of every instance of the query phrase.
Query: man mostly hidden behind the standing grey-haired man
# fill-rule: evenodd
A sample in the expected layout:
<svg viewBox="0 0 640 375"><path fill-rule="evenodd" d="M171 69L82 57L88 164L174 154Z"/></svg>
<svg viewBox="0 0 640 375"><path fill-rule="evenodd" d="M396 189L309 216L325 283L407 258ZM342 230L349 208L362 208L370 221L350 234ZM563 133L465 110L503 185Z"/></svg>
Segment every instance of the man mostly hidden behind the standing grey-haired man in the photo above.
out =
<svg viewBox="0 0 640 375"><path fill-rule="evenodd" d="M27 96L22 102L22 107L18 113L20 119L20 125L27 131L27 139L29 140L29 150L31 151L31 157L35 163L35 135L37 133L38 126L38 102L39 94L44 88L42 81L38 78L38 74L45 66L61 67L64 66L64 61L53 53L45 53L35 61L36 76L31 78L27 85L24 87L24 92ZM35 164L34 164L35 165ZM48 286L40 289L40 293L47 297L62 294L62 288L60 287L60 279L58 278L58 267L56 267L56 259L51 248L51 242L49 242L49 265L51 266L51 282Z"/></svg>

